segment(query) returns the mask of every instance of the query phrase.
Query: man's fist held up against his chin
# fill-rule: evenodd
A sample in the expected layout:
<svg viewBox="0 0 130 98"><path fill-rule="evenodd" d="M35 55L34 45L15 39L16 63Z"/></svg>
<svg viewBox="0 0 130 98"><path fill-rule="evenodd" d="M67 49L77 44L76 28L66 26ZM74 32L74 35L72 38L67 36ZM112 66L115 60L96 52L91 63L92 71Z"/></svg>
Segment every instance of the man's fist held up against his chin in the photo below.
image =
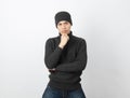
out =
<svg viewBox="0 0 130 98"><path fill-rule="evenodd" d="M69 37L66 33L63 33L61 36L61 42L60 42L58 46L61 48L64 48L64 46L66 45L66 43L68 42L68 40L69 40Z"/></svg>

